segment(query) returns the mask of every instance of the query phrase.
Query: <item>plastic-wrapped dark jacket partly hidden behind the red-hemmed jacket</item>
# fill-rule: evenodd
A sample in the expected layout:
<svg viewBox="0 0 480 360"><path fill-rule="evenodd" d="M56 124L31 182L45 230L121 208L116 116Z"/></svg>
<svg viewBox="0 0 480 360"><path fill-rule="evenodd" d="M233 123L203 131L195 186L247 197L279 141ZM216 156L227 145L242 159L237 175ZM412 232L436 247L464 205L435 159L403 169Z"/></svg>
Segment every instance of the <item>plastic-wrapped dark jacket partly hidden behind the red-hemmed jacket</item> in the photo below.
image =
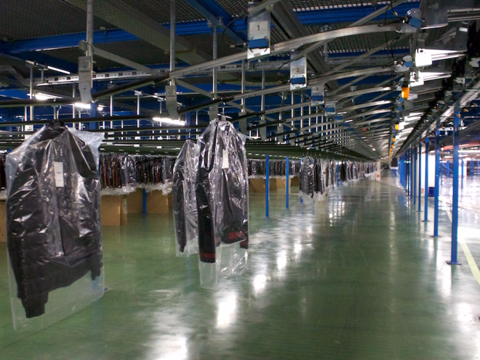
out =
<svg viewBox="0 0 480 360"><path fill-rule="evenodd" d="M191 140L185 141L173 167L173 221L177 256L198 252L198 216L195 180L198 149Z"/></svg>

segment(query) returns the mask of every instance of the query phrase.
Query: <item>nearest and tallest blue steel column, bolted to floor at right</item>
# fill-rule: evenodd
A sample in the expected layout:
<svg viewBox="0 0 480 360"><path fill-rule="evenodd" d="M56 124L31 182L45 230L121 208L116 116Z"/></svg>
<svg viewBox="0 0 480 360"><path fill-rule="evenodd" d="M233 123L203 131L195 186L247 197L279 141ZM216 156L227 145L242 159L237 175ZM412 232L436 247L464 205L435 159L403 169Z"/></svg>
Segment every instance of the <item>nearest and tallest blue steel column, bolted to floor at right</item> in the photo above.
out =
<svg viewBox="0 0 480 360"><path fill-rule="evenodd" d="M452 199L452 250L451 265L459 265L457 261L458 248L458 150L460 147L460 109L455 108L453 115L453 199Z"/></svg>

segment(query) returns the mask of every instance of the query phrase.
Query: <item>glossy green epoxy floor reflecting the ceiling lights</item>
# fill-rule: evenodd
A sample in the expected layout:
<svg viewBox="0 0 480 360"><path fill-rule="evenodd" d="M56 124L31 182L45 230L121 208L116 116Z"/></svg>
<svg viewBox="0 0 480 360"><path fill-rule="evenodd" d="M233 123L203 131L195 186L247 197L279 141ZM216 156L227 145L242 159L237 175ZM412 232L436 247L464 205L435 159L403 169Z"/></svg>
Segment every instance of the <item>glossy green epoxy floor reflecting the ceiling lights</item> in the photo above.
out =
<svg viewBox="0 0 480 360"><path fill-rule="evenodd" d="M132 215L104 228L105 296L37 333L12 328L0 244L0 359L480 359L480 285L460 249L465 265L445 263L446 212L434 240L384 175L323 203L292 195L289 211L272 193L269 219L252 194L250 269L217 291L200 289L196 256L175 257L171 215Z"/></svg>

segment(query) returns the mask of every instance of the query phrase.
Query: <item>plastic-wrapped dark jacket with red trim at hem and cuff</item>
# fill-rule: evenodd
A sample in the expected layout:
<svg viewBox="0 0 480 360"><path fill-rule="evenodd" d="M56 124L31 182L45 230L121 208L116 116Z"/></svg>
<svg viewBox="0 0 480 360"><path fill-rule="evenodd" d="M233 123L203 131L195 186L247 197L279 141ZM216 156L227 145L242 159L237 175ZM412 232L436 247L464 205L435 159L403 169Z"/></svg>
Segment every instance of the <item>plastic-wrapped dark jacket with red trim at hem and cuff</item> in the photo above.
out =
<svg viewBox="0 0 480 360"><path fill-rule="evenodd" d="M228 121L212 121L198 140L195 182L200 261L215 263L215 248L248 248L248 166L245 138Z"/></svg>

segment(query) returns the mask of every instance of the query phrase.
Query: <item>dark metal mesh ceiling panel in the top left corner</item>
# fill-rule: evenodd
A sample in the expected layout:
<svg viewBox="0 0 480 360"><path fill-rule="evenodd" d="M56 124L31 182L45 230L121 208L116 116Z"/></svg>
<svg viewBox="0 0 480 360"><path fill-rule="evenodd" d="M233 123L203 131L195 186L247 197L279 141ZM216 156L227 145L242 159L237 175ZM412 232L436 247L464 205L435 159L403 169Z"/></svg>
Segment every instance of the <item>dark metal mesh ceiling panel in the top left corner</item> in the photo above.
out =
<svg viewBox="0 0 480 360"><path fill-rule="evenodd" d="M86 12L61 0L0 1L0 40L85 32ZM95 29L114 26L95 19Z"/></svg>

